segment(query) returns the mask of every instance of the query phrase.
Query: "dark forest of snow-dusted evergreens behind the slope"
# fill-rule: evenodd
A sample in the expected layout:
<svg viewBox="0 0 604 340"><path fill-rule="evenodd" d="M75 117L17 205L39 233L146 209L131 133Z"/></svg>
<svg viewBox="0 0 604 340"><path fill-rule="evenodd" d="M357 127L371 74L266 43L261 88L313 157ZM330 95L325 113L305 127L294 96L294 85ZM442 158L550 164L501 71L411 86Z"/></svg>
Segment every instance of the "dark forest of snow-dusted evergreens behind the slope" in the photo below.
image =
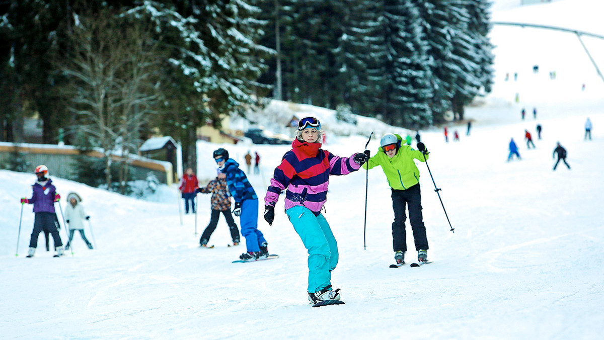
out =
<svg viewBox="0 0 604 340"><path fill-rule="evenodd" d="M7 0L0 18L0 141L36 116L44 143L170 135L191 165L198 127L266 98L420 129L493 77L487 0Z"/></svg>

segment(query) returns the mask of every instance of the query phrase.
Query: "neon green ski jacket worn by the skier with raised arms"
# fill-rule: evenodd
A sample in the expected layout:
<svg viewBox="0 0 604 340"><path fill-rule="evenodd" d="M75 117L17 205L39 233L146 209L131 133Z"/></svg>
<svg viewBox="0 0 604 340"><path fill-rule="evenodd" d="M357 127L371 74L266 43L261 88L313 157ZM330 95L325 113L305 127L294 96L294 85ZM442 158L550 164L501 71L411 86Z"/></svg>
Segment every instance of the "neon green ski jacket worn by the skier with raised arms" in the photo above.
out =
<svg viewBox="0 0 604 340"><path fill-rule="evenodd" d="M403 140L401 136L394 135L399 141ZM403 145L399 148L396 155L390 158L382 147L379 147L377 153L363 164L363 168L381 166L388 179L388 185L391 188L394 190L407 190L419 183L419 170L413 159L425 162L423 156L421 151L415 150L408 145ZM428 155L426 155L425 159L428 159Z"/></svg>

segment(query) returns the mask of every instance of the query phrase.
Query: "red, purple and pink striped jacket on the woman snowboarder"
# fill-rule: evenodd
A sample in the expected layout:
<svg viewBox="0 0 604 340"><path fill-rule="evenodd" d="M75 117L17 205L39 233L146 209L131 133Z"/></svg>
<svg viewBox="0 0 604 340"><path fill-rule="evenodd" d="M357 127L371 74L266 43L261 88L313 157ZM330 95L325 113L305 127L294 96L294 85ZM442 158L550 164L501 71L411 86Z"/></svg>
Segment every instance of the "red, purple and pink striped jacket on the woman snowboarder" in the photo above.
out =
<svg viewBox="0 0 604 340"><path fill-rule="evenodd" d="M306 143L295 139L292 150L283 155L275 168L265 204L275 206L285 189L285 209L301 205L318 215L327 200L329 175L348 175L360 165L350 157L339 157L320 149L321 143Z"/></svg>

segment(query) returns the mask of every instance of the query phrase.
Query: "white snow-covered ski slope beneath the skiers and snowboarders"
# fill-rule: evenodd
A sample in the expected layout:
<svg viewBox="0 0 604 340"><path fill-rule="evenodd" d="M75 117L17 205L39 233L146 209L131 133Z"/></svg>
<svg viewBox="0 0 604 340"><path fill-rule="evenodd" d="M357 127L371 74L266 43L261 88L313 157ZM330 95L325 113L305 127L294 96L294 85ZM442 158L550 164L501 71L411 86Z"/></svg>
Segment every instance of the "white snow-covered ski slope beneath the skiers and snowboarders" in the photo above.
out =
<svg viewBox="0 0 604 340"><path fill-rule="evenodd" d="M562 2L573 1L547 5ZM578 71L565 78L566 70L580 68L588 79L593 68L559 54L501 66L513 55L510 48L530 45L525 41L530 36L507 34L508 29L493 30L497 79L484 104L468 109L471 135L465 135L465 126L449 126L451 132L459 130L461 141L445 143L440 128L422 132L431 152L429 169L455 228L449 231L428 168L419 164L428 255L434 263L388 268L393 213L379 168L368 173L367 250L366 173L330 180L325 216L340 253L332 282L346 304L318 309L307 304L306 249L282 201L272 226L262 217L259 221L269 250L280 258L240 264L231 261L245 248L226 246L230 235L222 219L210 240L216 248L198 247L210 219L208 195L199 194L197 218L185 215L181 224L176 188L164 188L162 199L149 202L53 178L63 197L69 191L83 197L97 248L86 249L76 236L73 256L53 258L42 246L34 258L25 258L34 215L30 205L21 214L19 198L30 196L35 176L0 170L1 337L599 339L604 332L604 86L595 79L585 91L576 89L572 79L579 79ZM533 74L535 63L555 63L557 79L549 79L545 66ZM508 69L519 73L516 82L504 80ZM522 106L529 112L524 121ZM591 141L583 140L587 117L594 124ZM536 139L537 123L544 128L542 140ZM536 149L527 150L522 142L525 129L535 136ZM522 160L506 162L512 137ZM369 144L372 152L377 140L379 135ZM568 150L572 170L559 165L552 171L556 141ZM326 149L348 156L366 142L365 136L331 135ZM211 151L219 146L199 146L200 171L212 176ZM228 149L240 163L248 150L260 153L260 175L249 179L263 197L288 146ZM65 203L60 202L63 210ZM414 249L409 226L408 231L408 247ZM90 229L86 234L92 240ZM61 236L65 239L63 229ZM413 256L408 252L408 259Z"/></svg>

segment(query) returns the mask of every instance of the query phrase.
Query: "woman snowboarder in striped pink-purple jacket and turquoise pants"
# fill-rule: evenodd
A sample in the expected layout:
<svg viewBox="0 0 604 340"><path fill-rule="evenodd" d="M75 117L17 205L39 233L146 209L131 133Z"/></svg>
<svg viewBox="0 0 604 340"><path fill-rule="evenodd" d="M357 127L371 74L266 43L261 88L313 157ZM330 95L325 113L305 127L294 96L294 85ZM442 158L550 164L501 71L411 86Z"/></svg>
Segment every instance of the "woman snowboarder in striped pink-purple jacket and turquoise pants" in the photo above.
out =
<svg viewBox="0 0 604 340"><path fill-rule="evenodd" d="M275 168L265 196L264 218L275 218L279 194L285 194L285 213L308 251L308 299L314 306L338 304L339 289L332 289L332 271L338 264L338 244L321 208L327 199L330 175L347 175L359 170L369 158L365 153L339 157L321 149L321 123L314 117L298 121L292 150ZM329 301L328 301L329 300ZM335 301L333 301L335 300Z"/></svg>

